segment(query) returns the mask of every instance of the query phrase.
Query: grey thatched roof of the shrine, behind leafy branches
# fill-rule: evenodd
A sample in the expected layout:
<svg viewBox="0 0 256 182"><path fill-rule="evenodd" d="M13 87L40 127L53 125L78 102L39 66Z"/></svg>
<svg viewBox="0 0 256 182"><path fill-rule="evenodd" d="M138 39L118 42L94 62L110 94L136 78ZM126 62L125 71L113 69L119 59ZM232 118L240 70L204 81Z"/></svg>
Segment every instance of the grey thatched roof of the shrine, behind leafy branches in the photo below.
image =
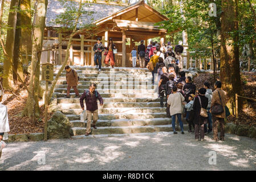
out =
<svg viewBox="0 0 256 182"><path fill-rule="evenodd" d="M70 1L66 2L71 5ZM74 3L74 1L73 1ZM75 2L78 5L78 2ZM91 3L91 7L84 7L86 11L94 11L95 13L91 16L82 15L79 19L78 28L81 28L84 23L92 23L96 20L102 19L106 16L112 15L117 11L124 9L124 6L107 5L99 3ZM64 12L64 7L58 0L48 0L48 6L46 11L46 27L59 27L59 25L51 23L57 15Z"/></svg>

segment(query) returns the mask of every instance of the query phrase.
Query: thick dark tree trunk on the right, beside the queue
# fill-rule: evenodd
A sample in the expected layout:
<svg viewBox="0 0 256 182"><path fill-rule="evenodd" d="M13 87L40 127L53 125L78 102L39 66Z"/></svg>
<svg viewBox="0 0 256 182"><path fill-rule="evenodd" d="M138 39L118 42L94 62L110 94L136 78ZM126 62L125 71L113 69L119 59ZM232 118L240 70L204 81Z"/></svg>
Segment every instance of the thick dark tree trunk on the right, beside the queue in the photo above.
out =
<svg viewBox="0 0 256 182"><path fill-rule="evenodd" d="M234 37L228 33L238 30L238 0L222 0L221 14L221 82L222 88L234 103L235 93L240 94L241 78L239 70L238 34Z"/></svg>

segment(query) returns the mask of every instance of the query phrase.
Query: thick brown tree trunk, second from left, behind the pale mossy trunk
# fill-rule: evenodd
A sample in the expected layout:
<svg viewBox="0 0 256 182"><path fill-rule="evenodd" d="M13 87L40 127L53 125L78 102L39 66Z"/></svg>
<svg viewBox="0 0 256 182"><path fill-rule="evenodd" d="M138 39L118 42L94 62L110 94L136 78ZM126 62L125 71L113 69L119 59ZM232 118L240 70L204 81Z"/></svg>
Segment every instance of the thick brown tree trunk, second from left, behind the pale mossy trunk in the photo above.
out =
<svg viewBox="0 0 256 182"><path fill-rule="evenodd" d="M21 1L21 10L31 10L30 0ZM21 44L20 52L22 54L22 63L29 64L32 53L32 39L31 39L31 14L29 12L21 14Z"/></svg>

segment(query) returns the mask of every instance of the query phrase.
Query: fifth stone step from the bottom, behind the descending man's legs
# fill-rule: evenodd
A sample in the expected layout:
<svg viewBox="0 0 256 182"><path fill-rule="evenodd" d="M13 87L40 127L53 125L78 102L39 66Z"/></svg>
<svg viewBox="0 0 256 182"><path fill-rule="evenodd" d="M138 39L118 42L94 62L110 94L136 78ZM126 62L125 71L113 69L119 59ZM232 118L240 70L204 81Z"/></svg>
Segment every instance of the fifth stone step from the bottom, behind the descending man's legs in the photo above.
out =
<svg viewBox="0 0 256 182"><path fill-rule="evenodd" d="M103 98L104 102L160 102L160 98ZM80 98L58 98L58 104L79 104ZM166 98L164 98L166 102Z"/></svg>

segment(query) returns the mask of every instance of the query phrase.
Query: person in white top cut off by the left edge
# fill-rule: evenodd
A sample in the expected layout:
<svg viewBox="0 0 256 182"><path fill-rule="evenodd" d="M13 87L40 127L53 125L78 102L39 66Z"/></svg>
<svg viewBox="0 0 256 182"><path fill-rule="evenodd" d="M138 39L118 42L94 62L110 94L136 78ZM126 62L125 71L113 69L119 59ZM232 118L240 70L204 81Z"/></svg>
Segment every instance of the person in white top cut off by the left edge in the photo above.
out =
<svg viewBox="0 0 256 182"><path fill-rule="evenodd" d="M3 92L0 90L0 102L2 102L3 99ZM0 142L2 139L7 140L8 134L7 132L10 131L9 127L9 121L8 121L8 115L7 115L7 107L5 105L0 104ZM6 133L6 138L3 138L3 134ZM0 158L2 155L2 151L0 151Z"/></svg>

